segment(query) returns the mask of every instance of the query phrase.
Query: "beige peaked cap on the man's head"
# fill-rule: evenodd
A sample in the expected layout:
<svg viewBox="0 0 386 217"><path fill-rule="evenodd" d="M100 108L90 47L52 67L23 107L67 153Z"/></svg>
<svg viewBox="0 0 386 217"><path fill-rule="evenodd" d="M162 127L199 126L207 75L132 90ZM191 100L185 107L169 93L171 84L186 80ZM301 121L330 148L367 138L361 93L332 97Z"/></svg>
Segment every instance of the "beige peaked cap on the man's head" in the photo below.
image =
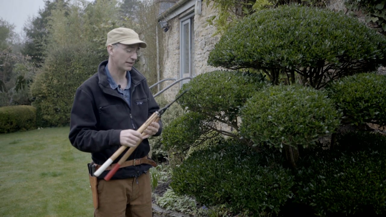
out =
<svg viewBox="0 0 386 217"><path fill-rule="evenodd" d="M106 47L109 44L139 44L139 47L145 48L145 42L139 40L137 32L132 29L119 27L107 33Z"/></svg>

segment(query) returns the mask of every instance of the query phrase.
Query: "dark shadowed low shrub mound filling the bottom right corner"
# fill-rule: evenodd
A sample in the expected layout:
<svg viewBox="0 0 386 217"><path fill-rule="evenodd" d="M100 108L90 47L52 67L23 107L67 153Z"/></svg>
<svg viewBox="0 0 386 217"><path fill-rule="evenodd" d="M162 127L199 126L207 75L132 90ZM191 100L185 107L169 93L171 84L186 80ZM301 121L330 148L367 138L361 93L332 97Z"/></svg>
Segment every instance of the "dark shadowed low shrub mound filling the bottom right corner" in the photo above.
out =
<svg viewBox="0 0 386 217"><path fill-rule="evenodd" d="M318 216L386 215L386 137L356 132L338 144L334 154L305 159L296 201L312 206Z"/></svg>

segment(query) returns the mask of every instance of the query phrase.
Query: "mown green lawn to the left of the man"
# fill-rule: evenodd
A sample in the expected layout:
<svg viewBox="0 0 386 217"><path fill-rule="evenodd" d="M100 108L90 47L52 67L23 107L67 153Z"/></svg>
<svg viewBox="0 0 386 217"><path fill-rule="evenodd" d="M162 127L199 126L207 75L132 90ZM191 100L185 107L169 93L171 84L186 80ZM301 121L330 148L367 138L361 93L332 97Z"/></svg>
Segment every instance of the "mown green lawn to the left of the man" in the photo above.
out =
<svg viewBox="0 0 386 217"><path fill-rule="evenodd" d="M0 134L0 216L93 216L89 153L69 127Z"/></svg>

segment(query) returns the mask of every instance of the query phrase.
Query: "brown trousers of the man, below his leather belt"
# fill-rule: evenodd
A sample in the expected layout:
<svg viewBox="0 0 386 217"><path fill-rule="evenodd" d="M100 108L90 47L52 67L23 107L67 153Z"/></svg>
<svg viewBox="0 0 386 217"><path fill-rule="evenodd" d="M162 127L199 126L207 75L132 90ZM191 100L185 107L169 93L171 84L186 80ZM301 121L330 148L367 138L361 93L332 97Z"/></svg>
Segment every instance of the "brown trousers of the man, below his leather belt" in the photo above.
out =
<svg viewBox="0 0 386 217"><path fill-rule="evenodd" d="M150 173L137 178L98 181L94 217L152 217Z"/></svg>

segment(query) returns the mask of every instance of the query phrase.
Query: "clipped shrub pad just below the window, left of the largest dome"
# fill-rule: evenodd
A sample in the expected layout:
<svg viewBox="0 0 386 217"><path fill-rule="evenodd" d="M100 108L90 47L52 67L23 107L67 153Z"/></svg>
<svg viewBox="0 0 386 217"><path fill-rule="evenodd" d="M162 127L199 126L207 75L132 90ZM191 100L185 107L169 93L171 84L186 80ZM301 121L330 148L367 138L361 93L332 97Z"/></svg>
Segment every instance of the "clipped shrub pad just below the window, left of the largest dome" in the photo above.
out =
<svg viewBox="0 0 386 217"><path fill-rule="evenodd" d="M240 71L211 71L200 74L181 91L191 88L178 103L188 110L218 117L229 125L237 121L239 108L264 85L262 75Z"/></svg>

